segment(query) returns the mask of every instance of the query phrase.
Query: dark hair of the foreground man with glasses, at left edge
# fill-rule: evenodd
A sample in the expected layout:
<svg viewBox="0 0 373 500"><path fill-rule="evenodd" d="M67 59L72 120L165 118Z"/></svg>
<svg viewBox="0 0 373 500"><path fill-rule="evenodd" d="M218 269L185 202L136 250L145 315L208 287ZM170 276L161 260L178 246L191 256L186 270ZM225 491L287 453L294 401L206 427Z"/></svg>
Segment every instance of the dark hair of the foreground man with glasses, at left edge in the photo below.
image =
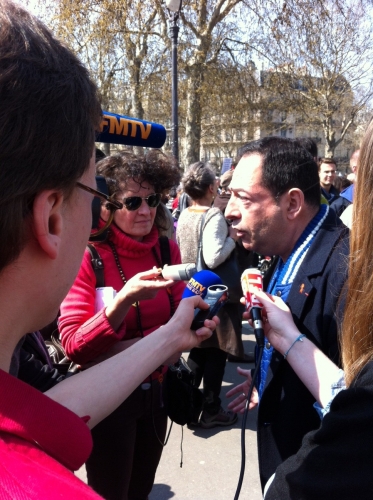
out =
<svg viewBox="0 0 373 500"><path fill-rule="evenodd" d="M0 0L0 269L21 252L33 201L68 196L101 121L87 70L44 24Z"/></svg>

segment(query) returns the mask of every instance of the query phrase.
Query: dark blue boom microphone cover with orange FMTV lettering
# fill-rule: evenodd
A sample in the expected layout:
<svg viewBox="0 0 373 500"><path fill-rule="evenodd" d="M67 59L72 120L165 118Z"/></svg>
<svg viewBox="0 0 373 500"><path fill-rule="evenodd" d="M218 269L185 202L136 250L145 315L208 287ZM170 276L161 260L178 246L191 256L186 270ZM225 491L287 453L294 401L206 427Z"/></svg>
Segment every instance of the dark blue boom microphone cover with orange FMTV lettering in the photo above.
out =
<svg viewBox="0 0 373 500"><path fill-rule="evenodd" d="M124 144L144 148L161 148L166 141L166 129L159 123L103 112L96 142Z"/></svg>

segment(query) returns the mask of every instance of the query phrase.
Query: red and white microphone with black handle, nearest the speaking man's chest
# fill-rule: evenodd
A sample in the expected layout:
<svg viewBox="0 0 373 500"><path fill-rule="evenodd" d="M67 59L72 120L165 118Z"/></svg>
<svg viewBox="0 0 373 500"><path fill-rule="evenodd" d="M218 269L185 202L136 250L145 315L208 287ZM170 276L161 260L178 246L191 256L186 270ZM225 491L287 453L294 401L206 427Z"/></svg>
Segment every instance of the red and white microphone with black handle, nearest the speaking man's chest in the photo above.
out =
<svg viewBox="0 0 373 500"><path fill-rule="evenodd" d="M246 309L253 320L254 334L258 347L264 347L264 329L262 319L263 304L249 291L250 286L256 286L263 290L262 274L258 269L246 269L241 276L242 291L245 296Z"/></svg>

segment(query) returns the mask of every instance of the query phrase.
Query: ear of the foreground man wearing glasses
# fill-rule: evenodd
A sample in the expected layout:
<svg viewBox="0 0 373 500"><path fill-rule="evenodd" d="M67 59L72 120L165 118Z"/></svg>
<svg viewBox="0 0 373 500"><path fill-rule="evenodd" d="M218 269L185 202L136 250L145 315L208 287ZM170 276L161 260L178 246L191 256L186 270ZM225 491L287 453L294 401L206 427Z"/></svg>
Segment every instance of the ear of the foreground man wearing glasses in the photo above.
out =
<svg viewBox="0 0 373 500"><path fill-rule="evenodd" d="M63 202L60 191L47 190L38 194L33 204L34 235L51 259L57 258L61 244Z"/></svg>

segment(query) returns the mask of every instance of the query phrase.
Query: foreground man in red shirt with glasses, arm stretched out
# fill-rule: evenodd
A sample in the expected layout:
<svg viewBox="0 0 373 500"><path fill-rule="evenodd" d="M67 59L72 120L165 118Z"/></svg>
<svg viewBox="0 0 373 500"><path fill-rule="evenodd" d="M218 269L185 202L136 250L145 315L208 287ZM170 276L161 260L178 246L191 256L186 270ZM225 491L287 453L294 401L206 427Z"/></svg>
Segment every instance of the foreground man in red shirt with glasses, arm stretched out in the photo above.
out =
<svg viewBox="0 0 373 500"><path fill-rule="evenodd" d="M149 337L45 394L9 375L18 342L56 317L79 270L101 108L80 61L8 0L0 0L0 97L0 497L100 498L71 472L90 454L89 428L165 359L208 338L218 319L190 330L194 308L207 308L196 296Z"/></svg>

